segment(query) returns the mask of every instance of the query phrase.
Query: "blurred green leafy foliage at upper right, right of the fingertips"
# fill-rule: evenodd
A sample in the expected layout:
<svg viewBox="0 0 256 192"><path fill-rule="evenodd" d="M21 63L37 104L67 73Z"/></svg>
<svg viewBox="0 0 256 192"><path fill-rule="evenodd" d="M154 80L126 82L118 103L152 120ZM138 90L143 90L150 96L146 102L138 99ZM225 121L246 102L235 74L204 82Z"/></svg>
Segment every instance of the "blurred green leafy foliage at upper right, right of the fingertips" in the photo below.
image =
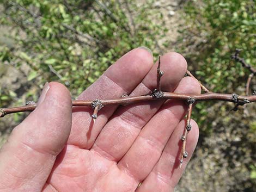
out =
<svg viewBox="0 0 256 192"><path fill-rule="evenodd" d="M240 57L256 66L255 2L189 1L184 7L184 17L185 27L180 26L179 52L187 58L190 70L212 91L245 95L250 72L231 60L230 55L240 48ZM211 132L211 120L205 115L215 113L209 110L213 104L198 104L199 110L194 114L204 133ZM224 114L230 109L221 106L216 113Z"/></svg>

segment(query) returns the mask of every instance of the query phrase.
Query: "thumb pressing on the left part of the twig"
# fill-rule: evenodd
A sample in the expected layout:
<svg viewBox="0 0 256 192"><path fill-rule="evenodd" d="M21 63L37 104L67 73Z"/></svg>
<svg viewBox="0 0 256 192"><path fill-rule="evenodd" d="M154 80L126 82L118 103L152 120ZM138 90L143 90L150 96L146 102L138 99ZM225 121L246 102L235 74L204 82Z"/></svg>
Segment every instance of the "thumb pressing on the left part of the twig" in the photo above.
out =
<svg viewBox="0 0 256 192"><path fill-rule="evenodd" d="M14 128L0 152L0 191L41 191L71 129L71 97L46 83L38 106Z"/></svg>

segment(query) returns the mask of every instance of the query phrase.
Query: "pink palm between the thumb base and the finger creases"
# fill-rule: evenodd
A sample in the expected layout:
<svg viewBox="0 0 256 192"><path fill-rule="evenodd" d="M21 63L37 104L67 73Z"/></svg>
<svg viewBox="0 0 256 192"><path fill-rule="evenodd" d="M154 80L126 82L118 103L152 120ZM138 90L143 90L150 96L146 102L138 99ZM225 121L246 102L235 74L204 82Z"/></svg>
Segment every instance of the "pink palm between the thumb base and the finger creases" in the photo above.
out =
<svg viewBox="0 0 256 192"><path fill-rule="evenodd" d="M116 162L94 151L67 145L60 154L45 191L133 191L138 183ZM53 187L54 186L54 187Z"/></svg>

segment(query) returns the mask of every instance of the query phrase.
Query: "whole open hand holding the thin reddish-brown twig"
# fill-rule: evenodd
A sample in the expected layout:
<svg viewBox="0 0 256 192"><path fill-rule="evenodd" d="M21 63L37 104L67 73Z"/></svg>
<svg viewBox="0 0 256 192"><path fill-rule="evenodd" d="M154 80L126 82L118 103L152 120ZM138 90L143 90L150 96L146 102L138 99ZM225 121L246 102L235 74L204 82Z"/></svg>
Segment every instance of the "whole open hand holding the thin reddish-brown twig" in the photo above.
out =
<svg viewBox="0 0 256 192"><path fill-rule="evenodd" d="M156 67L147 48L133 49L78 99L147 94L156 87ZM184 77L186 69L182 55L164 54L161 89L200 94L196 80ZM105 106L93 122L92 108L72 108L68 89L47 83L34 112L1 148L0 191L174 191L199 134L192 120L188 157L179 169L186 110L176 100Z"/></svg>

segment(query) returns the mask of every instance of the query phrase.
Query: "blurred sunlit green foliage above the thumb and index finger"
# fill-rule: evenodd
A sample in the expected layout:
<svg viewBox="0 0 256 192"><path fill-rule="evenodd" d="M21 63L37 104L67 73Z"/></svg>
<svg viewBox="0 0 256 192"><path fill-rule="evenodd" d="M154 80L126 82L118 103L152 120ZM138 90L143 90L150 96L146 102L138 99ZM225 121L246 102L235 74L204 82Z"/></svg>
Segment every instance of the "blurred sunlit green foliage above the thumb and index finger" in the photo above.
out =
<svg viewBox="0 0 256 192"><path fill-rule="evenodd" d="M0 44L0 61L30 67L28 86L57 80L76 97L120 55L130 49L155 47L163 34L150 15L153 1L2 0L0 24L12 27L14 44ZM132 13L131 13L132 10ZM161 27L161 29L160 29ZM2 64L1 64L2 65ZM1 90L5 98L4 91ZM1 106L5 105L0 99Z"/></svg>

